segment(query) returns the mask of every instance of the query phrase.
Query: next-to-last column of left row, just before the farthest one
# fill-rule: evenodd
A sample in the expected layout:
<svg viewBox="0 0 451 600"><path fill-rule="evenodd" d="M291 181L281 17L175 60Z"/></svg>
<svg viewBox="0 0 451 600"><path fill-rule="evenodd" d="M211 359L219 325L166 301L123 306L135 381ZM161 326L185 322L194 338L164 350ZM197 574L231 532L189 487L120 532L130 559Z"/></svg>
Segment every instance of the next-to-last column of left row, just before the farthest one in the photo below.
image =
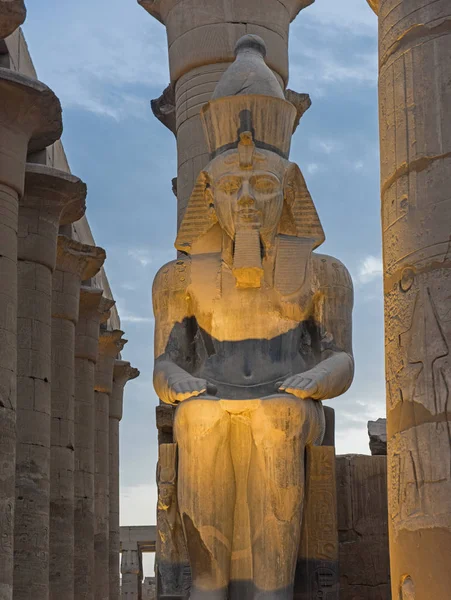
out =
<svg viewBox="0 0 451 600"><path fill-rule="evenodd" d="M123 335L119 330L101 331L95 373L95 600L109 600L109 415L114 365L126 344Z"/></svg>

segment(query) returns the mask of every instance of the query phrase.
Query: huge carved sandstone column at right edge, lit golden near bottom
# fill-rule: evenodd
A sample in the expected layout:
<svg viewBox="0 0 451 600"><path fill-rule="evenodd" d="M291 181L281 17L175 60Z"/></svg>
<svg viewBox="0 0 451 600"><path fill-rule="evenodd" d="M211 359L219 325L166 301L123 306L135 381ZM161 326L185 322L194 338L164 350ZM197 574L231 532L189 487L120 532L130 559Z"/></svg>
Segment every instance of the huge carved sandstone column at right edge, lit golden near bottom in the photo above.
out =
<svg viewBox="0 0 451 600"><path fill-rule="evenodd" d="M379 104L393 598L451 589L451 4L371 0Z"/></svg>

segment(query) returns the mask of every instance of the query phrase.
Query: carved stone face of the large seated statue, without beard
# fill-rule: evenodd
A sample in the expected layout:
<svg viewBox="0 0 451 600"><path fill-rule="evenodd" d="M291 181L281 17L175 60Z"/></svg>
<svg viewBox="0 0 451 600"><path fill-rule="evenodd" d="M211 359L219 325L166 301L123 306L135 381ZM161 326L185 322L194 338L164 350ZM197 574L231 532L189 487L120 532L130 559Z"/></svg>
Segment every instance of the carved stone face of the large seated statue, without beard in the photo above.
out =
<svg viewBox="0 0 451 600"><path fill-rule="evenodd" d="M214 159L208 168L211 201L219 224L233 239L237 230L258 229L270 240L283 210L285 161L277 154L255 152L251 168L240 165L237 151Z"/></svg>

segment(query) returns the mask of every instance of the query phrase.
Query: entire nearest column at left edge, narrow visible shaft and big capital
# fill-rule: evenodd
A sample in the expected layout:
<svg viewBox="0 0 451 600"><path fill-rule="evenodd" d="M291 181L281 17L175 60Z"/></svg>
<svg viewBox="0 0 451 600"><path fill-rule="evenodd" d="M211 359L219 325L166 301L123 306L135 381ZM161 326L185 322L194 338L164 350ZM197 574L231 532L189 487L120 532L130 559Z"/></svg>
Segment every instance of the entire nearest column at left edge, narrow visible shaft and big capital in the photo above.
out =
<svg viewBox="0 0 451 600"><path fill-rule="evenodd" d="M5 8L5 7L3 7ZM17 228L29 148L61 135L61 106L39 81L0 68L0 590L12 598L16 464Z"/></svg>

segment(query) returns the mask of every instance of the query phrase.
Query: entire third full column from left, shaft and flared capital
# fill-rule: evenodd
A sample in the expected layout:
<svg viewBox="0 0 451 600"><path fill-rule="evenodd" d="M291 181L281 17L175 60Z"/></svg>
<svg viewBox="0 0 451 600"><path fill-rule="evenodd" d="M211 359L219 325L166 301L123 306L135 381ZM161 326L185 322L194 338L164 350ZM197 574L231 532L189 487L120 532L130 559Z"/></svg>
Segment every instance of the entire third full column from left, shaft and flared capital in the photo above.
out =
<svg viewBox="0 0 451 600"><path fill-rule="evenodd" d="M52 427L50 459L50 600L74 596L74 353L81 282L105 251L58 237L52 298Z"/></svg>

